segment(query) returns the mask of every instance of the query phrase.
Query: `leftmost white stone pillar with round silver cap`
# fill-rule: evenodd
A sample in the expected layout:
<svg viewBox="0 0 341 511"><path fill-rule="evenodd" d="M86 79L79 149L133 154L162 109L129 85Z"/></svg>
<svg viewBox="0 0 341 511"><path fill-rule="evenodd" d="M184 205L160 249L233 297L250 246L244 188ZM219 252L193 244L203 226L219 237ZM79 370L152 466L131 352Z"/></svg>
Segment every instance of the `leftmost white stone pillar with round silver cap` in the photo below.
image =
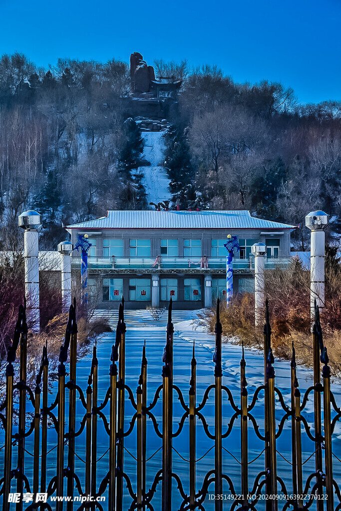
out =
<svg viewBox="0 0 341 511"><path fill-rule="evenodd" d="M41 217L36 211L25 211L19 215L19 226L24 232L25 296L27 322L33 332L39 332L39 247L38 228Z"/></svg>

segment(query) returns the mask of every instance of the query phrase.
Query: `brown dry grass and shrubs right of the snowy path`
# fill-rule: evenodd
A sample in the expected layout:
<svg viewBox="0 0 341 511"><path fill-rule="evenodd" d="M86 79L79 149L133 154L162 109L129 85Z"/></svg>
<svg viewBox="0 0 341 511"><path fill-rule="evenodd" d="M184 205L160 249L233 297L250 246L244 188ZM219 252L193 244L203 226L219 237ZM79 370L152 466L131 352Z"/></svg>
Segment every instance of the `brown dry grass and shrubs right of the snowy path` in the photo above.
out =
<svg viewBox="0 0 341 511"><path fill-rule="evenodd" d="M293 343L297 359L311 367L309 280L309 272L297 260L286 270L267 271L265 278L275 356L290 360ZM255 328L253 294L234 296L229 308L225 303L221 304L220 320L225 337L240 343L243 341L246 346L263 347L262 328ZM215 311L209 311L202 321L213 332ZM321 311L321 324L332 374L341 377L341 267L334 247L327 247L326 309Z"/></svg>

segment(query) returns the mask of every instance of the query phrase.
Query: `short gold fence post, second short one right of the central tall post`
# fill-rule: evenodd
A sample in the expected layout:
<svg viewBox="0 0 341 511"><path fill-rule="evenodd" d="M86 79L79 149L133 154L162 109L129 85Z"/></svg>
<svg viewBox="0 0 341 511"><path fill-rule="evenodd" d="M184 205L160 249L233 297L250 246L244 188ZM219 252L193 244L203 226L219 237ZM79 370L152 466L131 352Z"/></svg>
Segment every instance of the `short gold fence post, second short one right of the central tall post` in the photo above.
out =
<svg viewBox="0 0 341 511"><path fill-rule="evenodd" d="M241 448L241 493L243 506L248 505L248 461L247 461L247 381L245 375L244 346L240 360L240 448Z"/></svg>

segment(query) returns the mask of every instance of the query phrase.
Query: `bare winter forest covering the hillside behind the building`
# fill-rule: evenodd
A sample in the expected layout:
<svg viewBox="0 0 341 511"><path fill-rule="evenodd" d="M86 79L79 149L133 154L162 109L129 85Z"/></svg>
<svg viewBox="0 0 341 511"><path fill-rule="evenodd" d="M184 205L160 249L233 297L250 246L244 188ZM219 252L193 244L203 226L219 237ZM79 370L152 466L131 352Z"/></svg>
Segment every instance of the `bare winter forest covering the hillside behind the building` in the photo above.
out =
<svg viewBox="0 0 341 511"><path fill-rule="evenodd" d="M341 217L341 102L299 105L291 88L240 84L216 66L155 61L183 80L165 134L173 206L248 209L290 224L322 208ZM2 248L17 216L43 215L43 247L62 223L107 209L146 208L138 168L143 138L129 111L128 64L59 59L43 69L25 55L0 59ZM304 229L294 235L306 248Z"/></svg>

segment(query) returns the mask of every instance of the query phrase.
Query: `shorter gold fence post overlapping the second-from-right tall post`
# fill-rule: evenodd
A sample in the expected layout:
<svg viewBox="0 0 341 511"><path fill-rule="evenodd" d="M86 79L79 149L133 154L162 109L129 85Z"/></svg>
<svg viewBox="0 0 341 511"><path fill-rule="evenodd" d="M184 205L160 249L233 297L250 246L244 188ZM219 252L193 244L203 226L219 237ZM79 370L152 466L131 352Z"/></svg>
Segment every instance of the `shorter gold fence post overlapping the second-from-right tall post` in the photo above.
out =
<svg viewBox="0 0 341 511"><path fill-rule="evenodd" d="M275 420L275 369L272 366L274 357L272 350L269 349L267 364L266 364L266 379L267 387L265 389L268 394L268 429L269 429L269 466L268 466L268 480L269 480L269 495L271 511L277 511L278 501L277 495L277 451L276 451L276 420Z"/></svg>

